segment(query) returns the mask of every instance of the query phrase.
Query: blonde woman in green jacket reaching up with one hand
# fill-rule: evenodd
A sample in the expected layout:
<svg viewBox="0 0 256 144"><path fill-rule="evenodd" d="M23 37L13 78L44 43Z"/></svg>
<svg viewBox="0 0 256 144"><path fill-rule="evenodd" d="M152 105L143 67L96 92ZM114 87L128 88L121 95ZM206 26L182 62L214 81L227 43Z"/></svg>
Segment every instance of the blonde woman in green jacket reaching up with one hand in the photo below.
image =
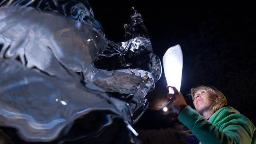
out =
<svg viewBox="0 0 256 144"><path fill-rule="evenodd" d="M233 107L226 106L226 98L221 91L203 85L192 88L194 110L175 87L171 88L174 94L167 94L169 107L199 139L199 143L256 144L255 126Z"/></svg>

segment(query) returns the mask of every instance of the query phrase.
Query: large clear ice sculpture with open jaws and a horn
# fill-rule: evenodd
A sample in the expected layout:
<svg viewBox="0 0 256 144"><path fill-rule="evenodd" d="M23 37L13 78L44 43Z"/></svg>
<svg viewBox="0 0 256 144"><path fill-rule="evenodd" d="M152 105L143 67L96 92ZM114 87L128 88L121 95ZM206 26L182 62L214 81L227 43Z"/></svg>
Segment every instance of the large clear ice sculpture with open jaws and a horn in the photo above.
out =
<svg viewBox="0 0 256 144"><path fill-rule="evenodd" d="M125 31L127 41L107 40L86 0L3 0L0 126L27 142L50 142L75 119L104 110L136 135L131 124L149 105L161 63L135 10Z"/></svg>

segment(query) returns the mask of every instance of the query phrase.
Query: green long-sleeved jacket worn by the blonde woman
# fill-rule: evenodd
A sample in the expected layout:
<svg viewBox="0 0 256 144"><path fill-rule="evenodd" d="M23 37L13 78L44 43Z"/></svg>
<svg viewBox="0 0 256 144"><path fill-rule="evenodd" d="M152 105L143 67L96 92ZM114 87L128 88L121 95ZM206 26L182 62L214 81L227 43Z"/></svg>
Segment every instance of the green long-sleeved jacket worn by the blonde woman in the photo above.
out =
<svg viewBox="0 0 256 144"><path fill-rule="evenodd" d="M178 120L203 144L256 144L255 126L233 107L220 108L207 121L196 110L186 106Z"/></svg>

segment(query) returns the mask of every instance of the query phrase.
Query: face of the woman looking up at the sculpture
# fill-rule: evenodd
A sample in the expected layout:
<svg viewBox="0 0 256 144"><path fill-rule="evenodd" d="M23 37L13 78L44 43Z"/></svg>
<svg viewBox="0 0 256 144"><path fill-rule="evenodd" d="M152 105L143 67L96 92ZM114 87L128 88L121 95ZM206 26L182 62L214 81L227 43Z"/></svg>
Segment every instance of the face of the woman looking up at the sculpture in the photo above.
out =
<svg viewBox="0 0 256 144"><path fill-rule="evenodd" d="M206 89L199 89L193 97L193 104L196 110L203 114L204 111L210 110L211 105L215 102L216 97L210 94Z"/></svg>

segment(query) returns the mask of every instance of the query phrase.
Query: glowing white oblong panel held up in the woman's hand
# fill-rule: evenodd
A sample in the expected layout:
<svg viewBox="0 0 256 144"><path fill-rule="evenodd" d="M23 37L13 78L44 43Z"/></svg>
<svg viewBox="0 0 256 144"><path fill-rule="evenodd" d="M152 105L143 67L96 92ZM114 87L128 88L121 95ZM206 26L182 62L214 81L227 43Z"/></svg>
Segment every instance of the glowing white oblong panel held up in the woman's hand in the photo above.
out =
<svg viewBox="0 0 256 144"><path fill-rule="evenodd" d="M165 52L163 66L167 85L176 87L180 91L183 67L183 55L180 45L173 46ZM169 88L169 93L173 94L174 91Z"/></svg>

